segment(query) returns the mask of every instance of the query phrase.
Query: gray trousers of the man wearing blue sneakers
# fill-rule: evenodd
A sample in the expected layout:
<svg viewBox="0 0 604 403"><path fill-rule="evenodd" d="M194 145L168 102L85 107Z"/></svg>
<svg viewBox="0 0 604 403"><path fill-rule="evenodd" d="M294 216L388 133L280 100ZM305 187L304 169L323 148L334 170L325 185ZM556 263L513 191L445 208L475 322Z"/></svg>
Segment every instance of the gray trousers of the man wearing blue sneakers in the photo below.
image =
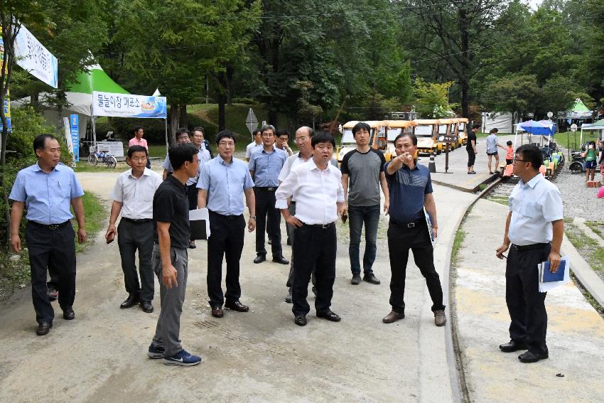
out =
<svg viewBox="0 0 604 403"><path fill-rule="evenodd" d="M183 313L185 302L185 291L187 289L187 249L171 248L170 260L176 269L176 281L178 286L167 289L161 281L161 257L159 256L159 245L153 245L153 272L159 280L159 296L161 299L161 312L157 320L157 328L153 336L154 345L163 345L164 357L171 357L183 347L180 345L180 313Z"/></svg>

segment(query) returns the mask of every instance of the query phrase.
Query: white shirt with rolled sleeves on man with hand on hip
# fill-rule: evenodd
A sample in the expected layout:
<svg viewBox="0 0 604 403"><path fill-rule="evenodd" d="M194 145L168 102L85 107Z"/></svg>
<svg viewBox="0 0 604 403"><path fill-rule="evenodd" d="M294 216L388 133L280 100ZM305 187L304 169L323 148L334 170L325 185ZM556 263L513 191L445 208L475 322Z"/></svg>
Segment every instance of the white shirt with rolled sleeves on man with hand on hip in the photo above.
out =
<svg viewBox="0 0 604 403"><path fill-rule="evenodd" d="M296 199L296 218L305 224L330 224L338 220L336 203L344 201L342 173L331 163L321 171L313 158L291 169L275 192L276 208L287 208Z"/></svg>

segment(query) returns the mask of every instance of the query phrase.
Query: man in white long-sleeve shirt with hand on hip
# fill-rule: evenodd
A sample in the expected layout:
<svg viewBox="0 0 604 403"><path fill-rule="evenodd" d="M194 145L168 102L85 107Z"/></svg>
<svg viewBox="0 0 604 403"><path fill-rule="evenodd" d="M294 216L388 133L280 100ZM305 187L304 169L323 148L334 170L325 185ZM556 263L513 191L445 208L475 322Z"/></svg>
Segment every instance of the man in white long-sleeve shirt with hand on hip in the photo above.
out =
<svg viewBox="0 0 604 403"><path fill-rule="evenodd" d="M311 144L313 158L292 168L275 194L276 208L281 209L286 222L296 227L291 311L298 326L306 325L306 314L310 311L306 296L313 269L317 316L340 321L330 306L335 279L335 221L344 210L342 174L330 163L335 148L331 134L313 136ZM296 215L289 213L287 199L290 197L296 200Z"/></svg>

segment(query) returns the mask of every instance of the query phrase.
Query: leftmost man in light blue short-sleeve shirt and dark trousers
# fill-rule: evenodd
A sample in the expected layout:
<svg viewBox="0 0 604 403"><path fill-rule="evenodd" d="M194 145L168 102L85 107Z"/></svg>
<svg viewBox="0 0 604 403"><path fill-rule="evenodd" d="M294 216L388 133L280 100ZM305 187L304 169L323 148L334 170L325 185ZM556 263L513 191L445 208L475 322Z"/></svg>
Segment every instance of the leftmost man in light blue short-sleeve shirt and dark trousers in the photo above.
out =
<svg viewBox="0 0 604 403"><path fill-rule="evenodd" d="M86 240L84 227L84 192L71 168L59 163L59 142L49 134L33 140L38 162L22 169L11 195L11 248L21 252L19 226L23 209L27 209L26 240L31 269L31 295L38 321L38 335L45 335L53 327L53 306L46 296L46 270L53 258L58 279L59 305L63 318L72 320L75 300L75 232L71 226L73 207L77 219L77 240Z"/></svg>

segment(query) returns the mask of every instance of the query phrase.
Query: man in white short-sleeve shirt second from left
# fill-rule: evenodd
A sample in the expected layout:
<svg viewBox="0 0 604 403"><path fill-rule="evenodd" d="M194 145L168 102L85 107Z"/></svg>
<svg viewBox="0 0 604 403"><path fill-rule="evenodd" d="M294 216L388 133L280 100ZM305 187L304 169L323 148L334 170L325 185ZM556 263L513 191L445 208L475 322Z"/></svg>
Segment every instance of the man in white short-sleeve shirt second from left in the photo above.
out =
<svg viewBox="0 0 604 403"><path fill-rule="evenodd" d="M120 308L130 308L140 303L146 313L153 312L153 269L151 252L153 251L153 194L161 184L161 176L145 168L147 149L144 146L131 146L126 162L132 167L117 177L113 190L113 204L109 217L109 227L105 239L107 243L117 234L119 255L122 258L122 271L128 298ZM119 213L122 220L117 229L115 222ZM136 274L134 254L139 250L139 276Z"/></svg>

